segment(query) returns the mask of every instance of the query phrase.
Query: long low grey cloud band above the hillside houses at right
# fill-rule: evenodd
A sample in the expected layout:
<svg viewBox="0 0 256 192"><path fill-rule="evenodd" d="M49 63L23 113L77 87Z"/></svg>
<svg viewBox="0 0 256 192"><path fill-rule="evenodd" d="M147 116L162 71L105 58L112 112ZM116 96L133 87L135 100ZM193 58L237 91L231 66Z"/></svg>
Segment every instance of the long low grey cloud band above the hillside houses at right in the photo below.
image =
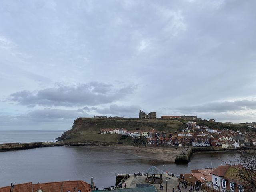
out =
<svg viewBox="0 0 256 192"><path fill-rule="evenodd" d="M208 112L228 112L228 111L246 111L256 110L256 100L236 100L234 102L210 102L196 106L184 106L175 108L182 113L208 113Z"/></svg>

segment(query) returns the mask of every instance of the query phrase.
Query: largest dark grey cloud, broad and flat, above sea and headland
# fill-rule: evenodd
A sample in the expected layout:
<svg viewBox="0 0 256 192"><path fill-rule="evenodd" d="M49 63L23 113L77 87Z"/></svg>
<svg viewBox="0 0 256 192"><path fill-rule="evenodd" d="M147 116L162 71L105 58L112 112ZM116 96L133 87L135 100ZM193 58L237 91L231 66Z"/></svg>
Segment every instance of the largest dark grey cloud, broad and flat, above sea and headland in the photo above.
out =
<svg viewBox="0 0 256 192"><path fill-rule="evenodd" d="M131 94L131 85L115 88L112 84L90 82L76 86L58 85L30 92L23 90L10 95L10 100L21 105L81 106L107 104Z"/></svg>

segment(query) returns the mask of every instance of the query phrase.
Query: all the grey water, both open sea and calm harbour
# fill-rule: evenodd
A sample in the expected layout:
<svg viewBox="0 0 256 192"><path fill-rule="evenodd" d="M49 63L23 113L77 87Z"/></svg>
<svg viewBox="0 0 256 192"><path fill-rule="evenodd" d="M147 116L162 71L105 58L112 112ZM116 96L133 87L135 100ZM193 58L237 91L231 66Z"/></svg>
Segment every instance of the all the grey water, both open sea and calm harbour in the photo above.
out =
<svg viewBox="0 0 256 192"><path fill-rule="evenodd" d="M0 143L55 141L65 130L0 131ZM0 187L11 183L44 183L94 178L98 188L114 186L117 174L144 172L153 164L174 174L236 163L237 152L196 153L188 164L166 164L88 146L58 146L0 152Z"/></svg>

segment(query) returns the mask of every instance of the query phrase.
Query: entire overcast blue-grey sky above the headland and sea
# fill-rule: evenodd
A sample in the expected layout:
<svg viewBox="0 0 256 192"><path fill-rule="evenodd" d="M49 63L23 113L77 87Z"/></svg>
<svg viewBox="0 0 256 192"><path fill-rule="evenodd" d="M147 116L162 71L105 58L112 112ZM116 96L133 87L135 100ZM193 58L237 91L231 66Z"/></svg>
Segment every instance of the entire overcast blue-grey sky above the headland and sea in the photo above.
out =
<svg viewBox="0 0 256 192"><path fill-rule="evenodd" d="M0 130L78 117L256 122L255 0L0 1Z"/></svg>

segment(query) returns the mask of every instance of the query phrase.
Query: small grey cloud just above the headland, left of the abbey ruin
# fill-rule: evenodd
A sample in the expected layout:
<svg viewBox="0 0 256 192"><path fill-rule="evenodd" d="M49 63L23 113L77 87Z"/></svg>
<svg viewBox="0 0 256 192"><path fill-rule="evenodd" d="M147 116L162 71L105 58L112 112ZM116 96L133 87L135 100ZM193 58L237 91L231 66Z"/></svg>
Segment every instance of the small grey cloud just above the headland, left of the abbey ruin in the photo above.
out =
<svg viewBox="0 0 256 192"><path fill-rule="evenodd" d="M140 110L140 106L118 106L116 104L110 105L108 108L97 109L96 112L100 114L110 114L110 115L120 115L120 116L136 116L138 111Z"/></svg>

